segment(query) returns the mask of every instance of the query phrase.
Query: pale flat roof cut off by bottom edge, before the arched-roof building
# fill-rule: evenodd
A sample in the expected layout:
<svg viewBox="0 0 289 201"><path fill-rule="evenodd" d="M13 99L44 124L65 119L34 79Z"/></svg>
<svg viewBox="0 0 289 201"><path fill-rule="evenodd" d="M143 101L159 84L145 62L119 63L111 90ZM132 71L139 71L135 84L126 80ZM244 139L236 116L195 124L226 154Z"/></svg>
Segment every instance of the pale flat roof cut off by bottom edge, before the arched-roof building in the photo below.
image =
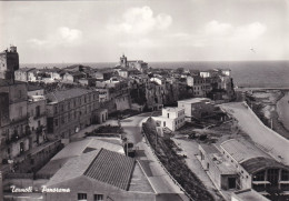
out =
<svg viewBox="0 0 289 201"><path fill-rule="evenodd" d="M239 201L270 201L252 189L233 192L232 197L240 199Z"/></svg>

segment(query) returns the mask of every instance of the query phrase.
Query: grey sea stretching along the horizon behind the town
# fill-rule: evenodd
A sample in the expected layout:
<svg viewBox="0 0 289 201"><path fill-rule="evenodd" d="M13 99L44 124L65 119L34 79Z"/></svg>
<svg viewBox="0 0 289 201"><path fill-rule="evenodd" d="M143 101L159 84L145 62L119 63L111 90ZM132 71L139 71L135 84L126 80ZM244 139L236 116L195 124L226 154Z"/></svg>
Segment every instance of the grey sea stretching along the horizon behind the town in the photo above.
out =
<svg viewBox="0 0 289 201"><path fill-rule="evenodd" d="M289 88L289 61L176 61L148 62L151 68L163 69L231 69L236 87L243 88ZM20 63L20 68L64 68L83 64L91 68L116 67L117 62L93 63Z"/></svg>

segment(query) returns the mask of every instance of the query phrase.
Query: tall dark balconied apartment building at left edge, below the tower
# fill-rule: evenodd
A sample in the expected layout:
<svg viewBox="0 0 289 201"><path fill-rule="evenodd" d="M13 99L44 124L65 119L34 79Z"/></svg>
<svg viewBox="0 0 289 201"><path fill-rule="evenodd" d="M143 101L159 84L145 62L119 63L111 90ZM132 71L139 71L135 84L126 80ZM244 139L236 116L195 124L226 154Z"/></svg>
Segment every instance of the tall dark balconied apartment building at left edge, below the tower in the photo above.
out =
<svg viewBox="0 0 289 201"><path fill-rule="evenodd" d="M27 101L27 83L0 79L1 161L13 159L31 148Z"/></svg>

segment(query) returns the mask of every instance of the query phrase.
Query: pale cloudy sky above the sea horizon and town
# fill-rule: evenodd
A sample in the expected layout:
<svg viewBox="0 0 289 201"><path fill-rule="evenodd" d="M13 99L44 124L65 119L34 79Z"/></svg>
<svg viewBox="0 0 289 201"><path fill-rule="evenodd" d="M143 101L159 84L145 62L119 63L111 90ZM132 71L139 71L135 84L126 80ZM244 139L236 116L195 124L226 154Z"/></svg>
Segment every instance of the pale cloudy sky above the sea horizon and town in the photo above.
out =
<svg viewBox="0 0 289 201"><path fill-rule="evenodd" d="M289 60L289 0L0 1L20 63Z"/></svg>

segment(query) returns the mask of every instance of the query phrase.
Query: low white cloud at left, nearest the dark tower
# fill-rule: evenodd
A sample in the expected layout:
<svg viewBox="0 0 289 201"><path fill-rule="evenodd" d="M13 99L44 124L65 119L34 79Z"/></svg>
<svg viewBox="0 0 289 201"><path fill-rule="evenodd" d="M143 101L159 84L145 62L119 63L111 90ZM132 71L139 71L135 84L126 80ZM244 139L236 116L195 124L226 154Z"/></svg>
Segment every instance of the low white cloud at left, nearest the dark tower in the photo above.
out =
<svg viewBox="0 0 289 201"><path fill-rule="evenodd" d="M38 47L56 47L60 44L76 46L81 42L82 31L78 29L70 29L68 27L60 27L56 32L48 34L46 39L29 39L28 42Z"/></svg>

